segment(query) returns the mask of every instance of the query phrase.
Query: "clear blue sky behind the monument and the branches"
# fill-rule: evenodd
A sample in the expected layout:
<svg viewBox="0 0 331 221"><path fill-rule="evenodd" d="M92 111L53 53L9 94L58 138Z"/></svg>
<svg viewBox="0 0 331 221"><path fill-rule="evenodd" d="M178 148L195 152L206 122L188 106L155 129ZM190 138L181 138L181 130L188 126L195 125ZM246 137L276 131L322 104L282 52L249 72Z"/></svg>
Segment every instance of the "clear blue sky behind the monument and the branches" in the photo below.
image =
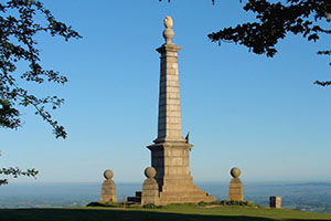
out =
<svg viewBox="0 0 331 221"><path fill-rule="evenodd" d="M162 20L174 21L179 52L183 135L190 131L196 181L227 181L232 167L245 181L331 181L328 49L288 35L274 59L244 46L211 43L207 34L250 20L239 1L44 1L56 19L84 38L64 42L39 35L46 69L65 74L62 85L26 85L35 94L66 99L53 115L68 138L22 109L19 130L1 129L1 167L38 168L38 180L140 182L150 165L146 148L157 136Z"/></svg>

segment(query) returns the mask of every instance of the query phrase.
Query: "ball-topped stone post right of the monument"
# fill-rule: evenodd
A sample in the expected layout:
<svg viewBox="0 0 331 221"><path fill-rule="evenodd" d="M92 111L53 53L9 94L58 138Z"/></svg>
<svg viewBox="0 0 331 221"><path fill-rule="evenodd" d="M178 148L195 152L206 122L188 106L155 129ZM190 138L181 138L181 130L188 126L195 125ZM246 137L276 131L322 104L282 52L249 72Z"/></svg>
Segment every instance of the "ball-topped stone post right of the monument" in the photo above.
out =
<svg viewBox="0 0 331 221"><path fill-rule="evenodd" d="M229 181L228 200L244 201L243 183L242 180L239 179L241 176L239 168L236 167L232 168L229 173L233 178Z"/></svg>

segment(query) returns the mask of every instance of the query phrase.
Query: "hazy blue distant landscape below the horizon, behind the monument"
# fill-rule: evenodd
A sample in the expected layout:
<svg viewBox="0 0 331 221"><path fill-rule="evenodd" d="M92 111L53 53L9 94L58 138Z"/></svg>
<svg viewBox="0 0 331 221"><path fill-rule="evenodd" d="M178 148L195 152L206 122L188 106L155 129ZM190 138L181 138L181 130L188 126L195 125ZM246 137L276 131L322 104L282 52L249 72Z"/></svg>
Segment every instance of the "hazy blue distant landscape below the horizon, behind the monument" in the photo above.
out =
<svg viewBox="0 0 331 221"><path fill-rule="evenodd" d="M197 182L217 200L227 198L227 183ZM134 196L140 183L117 183L117 198ZM98 201L100 183L10 183L0 188L0 208L81 207ZM331 212L331 183L244 183L245 200L268 206L269 196L280 196L282 208Z"/></svg>

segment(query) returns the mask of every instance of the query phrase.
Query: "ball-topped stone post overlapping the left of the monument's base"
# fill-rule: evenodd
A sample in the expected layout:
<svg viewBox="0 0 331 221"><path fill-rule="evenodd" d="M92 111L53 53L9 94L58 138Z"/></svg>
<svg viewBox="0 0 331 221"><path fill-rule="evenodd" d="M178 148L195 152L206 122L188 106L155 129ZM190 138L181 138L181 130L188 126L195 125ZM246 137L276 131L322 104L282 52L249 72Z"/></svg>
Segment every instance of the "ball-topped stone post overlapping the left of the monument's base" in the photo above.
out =
<svg viewBox="0 0 331 221"><path fill-rule="evenodd" d="M147 179L142 185L141 204L160 204L159 185L154 179L157 170L153 167L145 169L145 176Z"/></svg>

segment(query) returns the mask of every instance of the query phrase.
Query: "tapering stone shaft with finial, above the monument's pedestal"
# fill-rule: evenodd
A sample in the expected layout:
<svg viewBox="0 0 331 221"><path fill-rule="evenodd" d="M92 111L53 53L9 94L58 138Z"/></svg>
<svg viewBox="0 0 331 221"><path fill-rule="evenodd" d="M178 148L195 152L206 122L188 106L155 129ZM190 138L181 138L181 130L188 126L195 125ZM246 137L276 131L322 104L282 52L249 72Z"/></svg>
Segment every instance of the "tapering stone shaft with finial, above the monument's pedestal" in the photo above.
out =
<svg viewBox="0 0 331 221"><path fill-rule="evenodd" d="M179 91L178 52L181 46L172 43L174 32L171 18L166 18L163 38L166 44L157 49L161 54L158 138L164 141L185 141L182 137L181 102Z"/></svg>

